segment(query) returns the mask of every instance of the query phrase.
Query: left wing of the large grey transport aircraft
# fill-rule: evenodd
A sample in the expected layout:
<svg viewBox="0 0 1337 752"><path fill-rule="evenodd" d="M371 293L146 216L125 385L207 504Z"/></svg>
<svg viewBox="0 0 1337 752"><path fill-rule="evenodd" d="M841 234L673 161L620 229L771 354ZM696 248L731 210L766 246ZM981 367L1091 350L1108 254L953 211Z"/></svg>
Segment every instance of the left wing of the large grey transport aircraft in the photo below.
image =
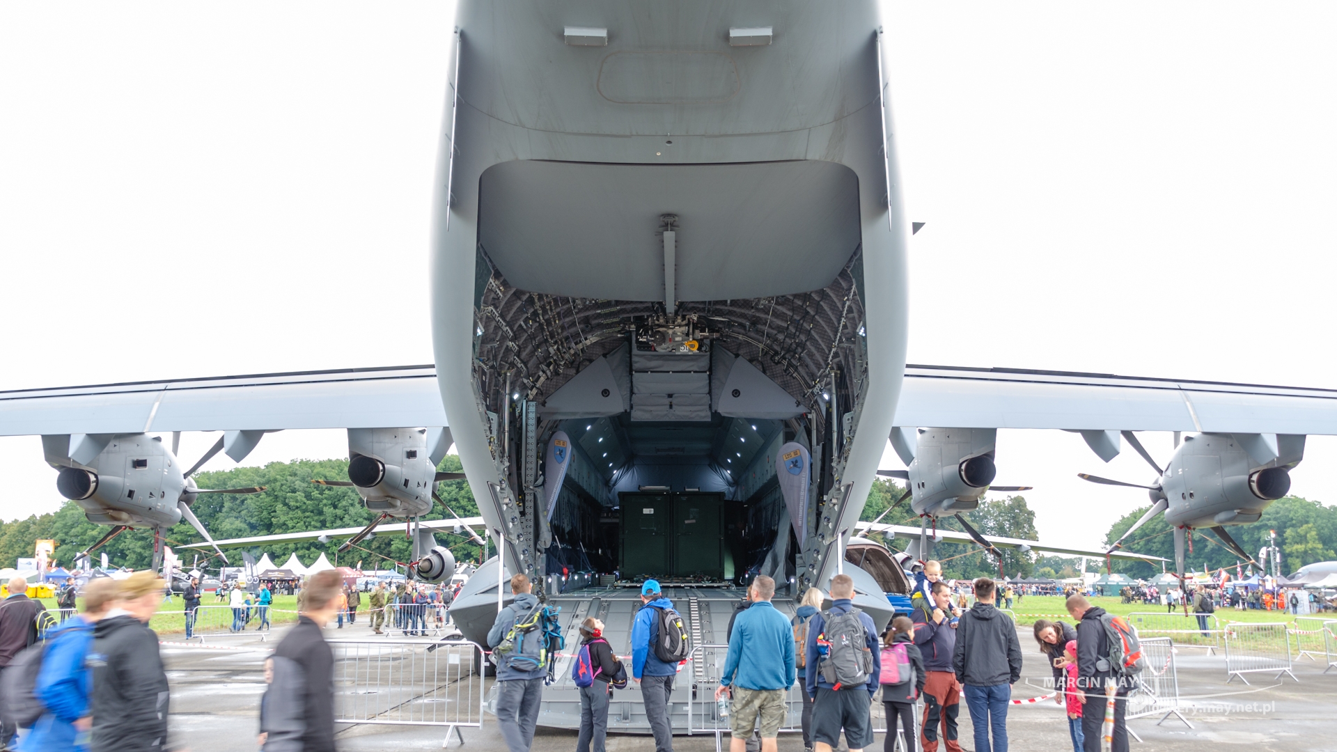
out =
<svg viewBox="0 0 1337 752"><path fill-rule="evenodd" d="M447 426L436 368L362 368L0 392L0 436Z"/></svg>

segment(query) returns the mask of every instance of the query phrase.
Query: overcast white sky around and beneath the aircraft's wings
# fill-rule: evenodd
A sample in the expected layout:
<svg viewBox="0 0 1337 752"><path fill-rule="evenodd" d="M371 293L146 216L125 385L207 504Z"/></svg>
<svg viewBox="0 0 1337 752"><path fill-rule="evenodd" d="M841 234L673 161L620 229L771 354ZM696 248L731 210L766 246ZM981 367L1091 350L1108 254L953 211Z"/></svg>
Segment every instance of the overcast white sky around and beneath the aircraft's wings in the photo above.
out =
<svg viewBox="0 0 1337 752"><path fill-rule="evenodd" d="M0 389L431 363L452 21L0 4ZM928 222L910 363L1337 387L1337 5L890 4L886 29ZM247 464L344 455L287 432ZM1312 438L1293 491L1337 498L1334 460ZM1000 432L997 462L1070 545L1146 502L1078 471L1151 479L1059 432ZM62 502L36 438L0 439L0 518Z"/></svg>

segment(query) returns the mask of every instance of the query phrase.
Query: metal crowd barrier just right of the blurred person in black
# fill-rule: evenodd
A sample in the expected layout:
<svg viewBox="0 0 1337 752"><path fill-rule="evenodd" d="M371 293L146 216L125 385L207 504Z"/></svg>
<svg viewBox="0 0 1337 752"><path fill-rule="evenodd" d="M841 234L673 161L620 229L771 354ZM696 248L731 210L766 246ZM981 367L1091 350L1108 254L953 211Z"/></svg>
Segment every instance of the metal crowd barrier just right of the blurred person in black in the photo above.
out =
<svg viewBox="0 0 1337 752"><path fill-rule="evenodd" d="M334 721L483 728L483 648L464 640L336 640Z"/></svg>

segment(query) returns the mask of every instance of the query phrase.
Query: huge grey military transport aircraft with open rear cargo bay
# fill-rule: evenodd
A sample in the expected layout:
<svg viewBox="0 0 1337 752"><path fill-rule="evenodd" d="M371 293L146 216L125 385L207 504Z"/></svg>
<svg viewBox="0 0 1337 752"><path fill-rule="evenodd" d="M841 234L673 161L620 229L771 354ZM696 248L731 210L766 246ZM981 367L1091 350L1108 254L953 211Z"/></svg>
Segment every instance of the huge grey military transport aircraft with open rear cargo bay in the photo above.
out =
<svg viewBox="0 0 1337 752"><path fill-rule="evenodd" d="M495 614L504 594L485 582L543 579L554 551L579 551L620 582L663 582L697 644L723 638L745 575L790 595L829 583L889 436L923 452L906 463L929 515L977 502L971 460L997 428L1080 431L1102 456L1123 431L1193 431L1207 459L1230 448L1215 435L1275 446L1185 468L1207 484L1181 502L1210 496L1221 526L1271 492L1225 488L1298 459L1269 436L1337 434L1321 389L906 368L912 223L873 0L461 0L443 43L435 371L9 392L0 434L449 426L500 550L452 613ZM919 427L953 442L929 456ZM1179 486L1159 487L1173 507ZM858 603L885 624L876 585ZM588 613L624 652L632 589L552 598L571 644ZM705 661L689 670L674 701L709 678ZM550 692L540 723L570 724L575 688ZM626 705L610 728L643 729Z"/></svg>

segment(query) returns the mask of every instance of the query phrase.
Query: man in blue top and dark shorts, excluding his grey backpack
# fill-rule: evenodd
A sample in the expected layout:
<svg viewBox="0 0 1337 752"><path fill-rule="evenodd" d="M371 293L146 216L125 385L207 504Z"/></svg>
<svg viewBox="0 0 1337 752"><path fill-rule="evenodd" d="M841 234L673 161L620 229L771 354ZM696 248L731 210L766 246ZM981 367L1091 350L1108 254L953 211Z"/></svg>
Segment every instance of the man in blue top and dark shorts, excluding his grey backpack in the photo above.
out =
<svg viewBox="0 0 1337 752"><path fill-rule="evenodd" d="M813 698L813 744L817 752L832 752L840 743L840 729L845 729L849 752L861 752L873 743L873 724L869 708L873 694L877 694L878 674L882 670L881 646L877 644L877 626L873 620L860 612L858 622L864 626L864 648L873 653L873 670L868 672L868 684L841 686L822 676L821 660L826 656L825 614L848 614L854 609L854 579L848 574L832 578L832 607L813 617L808 625L808 678L804 682L808 696ZM822 642L818 648L818 642Z"/></svg>

